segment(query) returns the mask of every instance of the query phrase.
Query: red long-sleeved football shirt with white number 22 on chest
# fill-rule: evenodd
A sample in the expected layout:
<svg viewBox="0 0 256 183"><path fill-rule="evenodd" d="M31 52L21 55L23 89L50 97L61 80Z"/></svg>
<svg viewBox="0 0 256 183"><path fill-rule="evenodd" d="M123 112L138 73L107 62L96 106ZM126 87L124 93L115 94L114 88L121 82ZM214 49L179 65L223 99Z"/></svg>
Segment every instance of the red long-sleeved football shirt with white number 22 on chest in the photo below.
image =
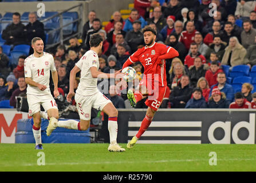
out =
<svg viewBox="0 0 256 183"><path fill-rule="evenodd" d="M143 80L152 78L152 86L156 80L159 86L167 86L165 59L178 57L179 53L170 46L161 43L153 43L152 46L144 46L133 53L123 65L123 69L132 63L140 61L144 66ZM158 74L157 78L154 75Z"/></svg>

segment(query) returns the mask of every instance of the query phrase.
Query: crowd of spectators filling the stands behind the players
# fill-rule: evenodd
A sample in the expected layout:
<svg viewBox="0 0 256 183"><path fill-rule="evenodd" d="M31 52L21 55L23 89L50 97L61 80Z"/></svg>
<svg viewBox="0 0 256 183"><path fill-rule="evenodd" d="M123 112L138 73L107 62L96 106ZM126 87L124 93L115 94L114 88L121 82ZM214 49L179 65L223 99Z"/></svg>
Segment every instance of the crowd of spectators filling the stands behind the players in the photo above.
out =
<svg viewBox="0 0 256 183"><path fill-rule="evenodd" d="M210 3L216 3L214 15ZM20 17L19 13L14 13L13 23L3 30L5 44L30 45L33 37L45 40L44 25L35 13L29 14L27 26L21 23ZM135 0L129 18L123 19L121 13L115 11L104 29L101 23L97 11L90 11L82 29L82 42L72 37L69 45L46 50L54 57L59 92L63 97L69 92L70 71L90 49L90 35L100 33L103 37L99 70L111 73L120 70L129 55L144 46L140 30L149 25L157 30L156 42L172 46L179 52L179 57L166 61L168 87L160 108L256 108L253 85L243 83L240 91L234 90L223 68L227 65L232 70L234 66L247 65L251 69L256 65L256 1ZM0 46L0 101L10 100L14 107L15 96L26 93L25 58L25 55L19 57L18 65L12 68ZM141 79L143 66L136 62L133 67L137 79ZM79 77L77 74L75 86ZM119 81L110 83L113 84L105 95L115 107L131 108L127 89L119 86ZM50 86L53 87L53 83ZM136 108L147 108L146 99L138 102Z"/></svg>

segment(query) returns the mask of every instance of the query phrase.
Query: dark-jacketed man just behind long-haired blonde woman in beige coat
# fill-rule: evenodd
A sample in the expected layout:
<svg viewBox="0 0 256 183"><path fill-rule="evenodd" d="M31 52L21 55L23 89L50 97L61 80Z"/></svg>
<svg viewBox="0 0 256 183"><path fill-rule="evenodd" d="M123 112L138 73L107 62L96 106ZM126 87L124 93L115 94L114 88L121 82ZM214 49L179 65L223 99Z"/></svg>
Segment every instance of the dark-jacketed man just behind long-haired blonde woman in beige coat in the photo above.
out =
<svg viewBox="0 0 256 183"><path fill-rule="evenodd" d="M222 33L220 33L221 39L223 42L226 42L226 45L229 43L229 39L231 37L237 37L239 42L241 42L241 36L239 33L236 33L234 30L233 23L231 22L226 22L224 26L224 30Z"/></svg>

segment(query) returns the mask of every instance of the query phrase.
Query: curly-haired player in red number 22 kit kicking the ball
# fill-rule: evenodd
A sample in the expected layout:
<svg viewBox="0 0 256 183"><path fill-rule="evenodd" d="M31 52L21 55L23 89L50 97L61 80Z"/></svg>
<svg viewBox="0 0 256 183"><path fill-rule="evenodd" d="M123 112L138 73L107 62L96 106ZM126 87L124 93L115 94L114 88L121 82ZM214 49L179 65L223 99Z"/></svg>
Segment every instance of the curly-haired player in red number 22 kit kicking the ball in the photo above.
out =
<svg viewBox="0 0 256 183"><path fill-rule="evenodd" d="M139 102L143 96L149 96L145 101L148 109L139 132L128 142L128 149L133 148L137 140L148 129L153 116L162 104L167 87L165 59L179 56L174 48L155 42L156 31L151 27L145 26L141 32L144 35L146 46L133 53L124 63L123 69L138 61L144 66L144 76L139 83L139 90L134 94L132 90L128 90L127 97L131 106L135 107L136 102Z"/></svg>

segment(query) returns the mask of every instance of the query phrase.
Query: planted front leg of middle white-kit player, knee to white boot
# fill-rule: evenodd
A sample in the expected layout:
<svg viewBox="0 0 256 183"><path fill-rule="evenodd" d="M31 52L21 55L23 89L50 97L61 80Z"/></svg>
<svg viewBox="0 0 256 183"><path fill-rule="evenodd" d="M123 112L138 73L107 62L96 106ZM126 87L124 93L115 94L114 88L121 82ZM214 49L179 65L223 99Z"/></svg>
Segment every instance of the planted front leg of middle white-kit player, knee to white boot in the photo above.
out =
<svg viewBox="0 0 256 183"><path fill-rule="evenodd" d="M117 131L118 131L118 125L117 125L118 111L117 111L117 109L112 104L112 102L110 102L104 106L103 112L108 115L108 131L109 131L109 140L110 140L110 145L108 147L108 150L110 152L125 151L125 149L121 148L116 142Z"/></svg>

